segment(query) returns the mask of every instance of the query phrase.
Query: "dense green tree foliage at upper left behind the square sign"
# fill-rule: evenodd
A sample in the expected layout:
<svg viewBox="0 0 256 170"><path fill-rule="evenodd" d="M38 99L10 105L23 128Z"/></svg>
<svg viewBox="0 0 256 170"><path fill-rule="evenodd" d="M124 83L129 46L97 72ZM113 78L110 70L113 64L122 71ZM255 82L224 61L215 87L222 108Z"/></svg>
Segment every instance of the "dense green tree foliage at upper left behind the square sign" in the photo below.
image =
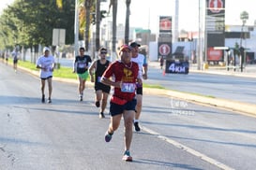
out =
<svg viewBox="0 0 256 170"><path fill-rule="evenodd" d="M66 44L72 44L74 35L74 9L73 0L62 2L57 7L55 0L16 0L15 3L4 10L1 16L0 33L5 37L14 37L15 41L24 46L37 44L52 45L53 28L66 29ZM12 33L12 35L11 35Z"/></svg>

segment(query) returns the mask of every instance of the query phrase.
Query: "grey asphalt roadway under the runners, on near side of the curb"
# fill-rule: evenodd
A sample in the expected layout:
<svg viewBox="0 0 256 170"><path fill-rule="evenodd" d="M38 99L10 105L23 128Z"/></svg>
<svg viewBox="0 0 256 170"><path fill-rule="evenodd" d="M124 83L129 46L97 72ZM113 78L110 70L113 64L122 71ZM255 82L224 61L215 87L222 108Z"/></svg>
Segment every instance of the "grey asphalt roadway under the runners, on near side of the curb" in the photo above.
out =
<svg viewBox="0 0 256 170"><path fill-rule="evenodd" d="M105 143L92 88L53 81L53 104L40 103L39 79L0 64L0 169L253 169L255 118L145 94L133 163L121 161L123 125Z"/></svg>

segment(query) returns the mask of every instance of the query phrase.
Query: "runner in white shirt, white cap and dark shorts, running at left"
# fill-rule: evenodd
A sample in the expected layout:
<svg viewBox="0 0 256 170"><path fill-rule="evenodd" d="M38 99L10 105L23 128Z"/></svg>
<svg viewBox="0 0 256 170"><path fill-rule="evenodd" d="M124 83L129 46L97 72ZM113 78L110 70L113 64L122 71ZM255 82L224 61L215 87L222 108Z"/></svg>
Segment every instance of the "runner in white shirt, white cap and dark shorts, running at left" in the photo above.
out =
<svg viewBox="0 0 256 170"><path fill-rule="evenodd" d="M37 61L37 68L40 69L40 78L41 78L41 92L42 92L42 103L45 103L45 80L48 82L49 97L48 103L52 103L52 92L53 92L53 70L55 66L54 57L50 55L50 49L45 47L43 48L44 55L40 56Z"/></svg>

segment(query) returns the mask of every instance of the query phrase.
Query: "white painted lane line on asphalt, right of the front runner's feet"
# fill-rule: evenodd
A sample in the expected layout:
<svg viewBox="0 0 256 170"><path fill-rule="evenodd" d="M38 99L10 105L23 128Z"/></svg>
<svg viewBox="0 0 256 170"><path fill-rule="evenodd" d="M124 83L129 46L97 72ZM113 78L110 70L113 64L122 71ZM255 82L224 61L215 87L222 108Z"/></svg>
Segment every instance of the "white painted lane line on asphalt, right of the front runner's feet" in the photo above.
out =
<svg viewBox="0 0 256 170"><path fill-rule="evenodd" d="M199 152L199 151L196 151L194 149L190 149L188 148L187 146L185 145L182 145L181 143L178 143L176 141L174 141L173 139L169 138L169 137L166 137L164 135L159 135L157 132L153 131L153 130L150 130L144 126L142 126L142 129L143 131L151 134L151 135L157 135L159 139L161 140L164 140L170 144L172 144L174 147L178 148L178 149L183 149L184 151L187 151L188 153L202 159L203 161L207 162L207 163L211 163L211 164L214 164L216 166L218 166L218 168L220 169L224 169L224 170L234 170L232 167L224 164L224 163L220 163L218 162L217 160L213 159L213 158L210 158L206 155L204 155L203 153Z"/></svg>

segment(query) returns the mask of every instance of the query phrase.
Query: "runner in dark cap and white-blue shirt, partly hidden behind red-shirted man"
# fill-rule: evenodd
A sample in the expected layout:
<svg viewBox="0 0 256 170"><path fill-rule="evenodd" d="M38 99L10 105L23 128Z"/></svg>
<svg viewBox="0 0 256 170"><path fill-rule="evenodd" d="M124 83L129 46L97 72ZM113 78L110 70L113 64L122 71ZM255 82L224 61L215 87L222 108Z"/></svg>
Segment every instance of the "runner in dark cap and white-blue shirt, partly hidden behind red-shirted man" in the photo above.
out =
<svg viewBox="0 0 256 170"><path fill-rule="evenodd" d="M139 53L139 47L141 47L141 45L136 42L131 42L129 46L132 48L131 61L139 64L139 78L147 79L146 57L143 54ZM136 99L137 99L137 105L135 108L136 114L134 119L134 127L135 127L135 131L139 132L141 131L141 128L139 126L139 119L140 119L142 107L143 107L143 84L137 84Z"/></svg>

